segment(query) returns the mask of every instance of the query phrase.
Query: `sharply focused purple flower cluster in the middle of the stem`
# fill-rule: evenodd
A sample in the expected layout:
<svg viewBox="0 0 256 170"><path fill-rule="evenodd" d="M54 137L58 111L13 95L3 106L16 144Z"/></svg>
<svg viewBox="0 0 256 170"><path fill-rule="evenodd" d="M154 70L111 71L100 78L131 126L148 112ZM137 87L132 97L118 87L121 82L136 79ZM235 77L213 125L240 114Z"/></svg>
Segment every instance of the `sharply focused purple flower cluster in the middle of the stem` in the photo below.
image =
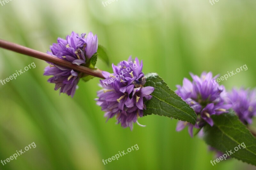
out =
<svg viewBox="0 0 256 170"><path fill-rule="evenodd" d="M133 123L138 123L138 118L143 116L143 109L146 109L144 101L150 100L154 91L154 87L143 86L146 78L142 66L142 61L131 57L117 66L112 64L114 73L103 71L106 79L100 80L103 89L98 91L99 98L96 99L101 110L106 112L105 117L116 116L117 123L121 122L122 127L130 127L131 130Z"/></svg>

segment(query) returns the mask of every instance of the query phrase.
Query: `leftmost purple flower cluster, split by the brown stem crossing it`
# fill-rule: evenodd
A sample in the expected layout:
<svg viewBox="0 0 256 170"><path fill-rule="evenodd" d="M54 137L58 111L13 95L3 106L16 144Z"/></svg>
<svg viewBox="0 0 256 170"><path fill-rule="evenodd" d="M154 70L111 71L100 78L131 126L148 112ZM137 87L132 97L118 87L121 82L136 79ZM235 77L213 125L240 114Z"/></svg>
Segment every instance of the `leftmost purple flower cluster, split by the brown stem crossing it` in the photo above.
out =
<svg viewBox="0 0 256 170"><path fill-rule="evenodd" d="M72 32L65 40L58 38L58 43L52 44L50 49L51 52L47 52L49 55L76 65L85 65L91 59L92 55L97 52L98 38L92 32L87 37L85 33L79 36L77 33ZM48 79L48 82L55 83L55 90L60 89L60 93L66 93L73 97L79 79L83 77L83 73L54 63L47 63L50 65L45 68L44 75L53 76Z"/></svg>

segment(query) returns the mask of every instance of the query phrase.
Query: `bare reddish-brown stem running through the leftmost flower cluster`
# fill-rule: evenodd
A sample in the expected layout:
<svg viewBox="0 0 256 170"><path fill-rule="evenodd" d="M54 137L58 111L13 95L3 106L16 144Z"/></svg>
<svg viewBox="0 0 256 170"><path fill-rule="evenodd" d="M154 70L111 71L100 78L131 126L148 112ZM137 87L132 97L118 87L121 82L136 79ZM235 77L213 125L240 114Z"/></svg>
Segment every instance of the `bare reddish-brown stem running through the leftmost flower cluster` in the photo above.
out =
<svg viewBox="0 0 256 170"><path fill-rule="evenodd" d="M15 44L15 43L0 39L0 47L104 79L104 77L102 75L102 71L100 71L100 70L92 70L92 69L89 69L89 68L81 66L81 65L78 66L78 65L72 64L66 60L62 60L58 57L54 57L52 55L48 55L46 53L42 53L40 51L36 51L31 48L27 48L27 47L21 46L19 44Z"/></svg>

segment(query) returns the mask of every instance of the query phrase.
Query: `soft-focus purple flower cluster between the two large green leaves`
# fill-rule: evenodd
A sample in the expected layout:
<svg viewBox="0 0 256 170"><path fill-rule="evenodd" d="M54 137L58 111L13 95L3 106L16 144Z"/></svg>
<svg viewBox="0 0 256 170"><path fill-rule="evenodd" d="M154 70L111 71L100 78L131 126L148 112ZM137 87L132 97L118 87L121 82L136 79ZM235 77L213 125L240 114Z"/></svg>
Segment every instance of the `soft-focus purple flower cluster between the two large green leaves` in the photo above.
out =
<svg viewBox="0 0 256 170"><path fill-rule="evenodd" d="M228 112L230 105L224 103L227 95L223 85L213 82L217 78L212 78L212 73L203 72L200 77L190 74L193 81L183 79L183 86L177 85L176 93L192 107L198 115L195 125L188 122L179 121L177 131L188 126L188 132L193 137L193 127L202 128L205 123L213 126L211 115L220 115Z"/></svg>

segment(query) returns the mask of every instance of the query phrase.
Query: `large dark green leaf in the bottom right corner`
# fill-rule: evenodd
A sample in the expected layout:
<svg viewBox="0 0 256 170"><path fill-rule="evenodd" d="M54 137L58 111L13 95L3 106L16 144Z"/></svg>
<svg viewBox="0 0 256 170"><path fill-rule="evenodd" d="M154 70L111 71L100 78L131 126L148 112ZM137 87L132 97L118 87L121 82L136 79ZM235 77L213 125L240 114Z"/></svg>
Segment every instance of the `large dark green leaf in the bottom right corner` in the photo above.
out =
<svg viewBox="0 0 256 170"><path fill-rule="evenodd" d="M211 116L214 122L213 127L204 127L204 140L207 144L226 153L234 152L230 156L256 166L256 138L238 119L233 111L221 115ZM245 148L241 147L235 151L235 147L244 143ZM236 148L237 150L237 148ZM228 152L229 153L229 152Z"/></svg>

